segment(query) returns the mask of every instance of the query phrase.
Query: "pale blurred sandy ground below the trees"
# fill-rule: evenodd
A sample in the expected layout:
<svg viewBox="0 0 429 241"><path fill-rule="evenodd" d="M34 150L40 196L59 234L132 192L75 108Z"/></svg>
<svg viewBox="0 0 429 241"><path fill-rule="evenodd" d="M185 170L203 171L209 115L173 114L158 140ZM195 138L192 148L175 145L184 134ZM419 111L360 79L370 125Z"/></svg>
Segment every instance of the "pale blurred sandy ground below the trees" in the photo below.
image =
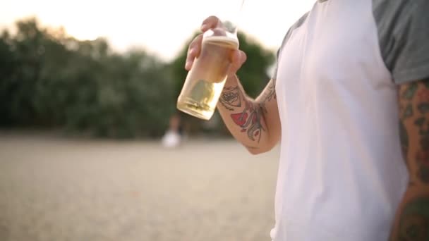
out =
<svg viewBox="0 0 429 241"><path fill-rule="evenodd" d="M0 240L270 240L279 149L0 134Z"/></svg>

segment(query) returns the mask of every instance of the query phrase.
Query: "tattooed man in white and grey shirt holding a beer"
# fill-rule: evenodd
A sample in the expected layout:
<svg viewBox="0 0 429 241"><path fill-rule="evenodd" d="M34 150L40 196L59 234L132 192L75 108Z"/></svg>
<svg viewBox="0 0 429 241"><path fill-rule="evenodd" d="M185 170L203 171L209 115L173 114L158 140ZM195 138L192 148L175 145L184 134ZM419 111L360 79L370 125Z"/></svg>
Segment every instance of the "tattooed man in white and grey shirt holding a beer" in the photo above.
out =
<svg viewBox="0 0 429 241"><path fill-rule="evenodd" d="M429 240L428 11L427 0L316 1L255 100L234 53L224 123L252 154L281 139L272 240Z"/></svg>

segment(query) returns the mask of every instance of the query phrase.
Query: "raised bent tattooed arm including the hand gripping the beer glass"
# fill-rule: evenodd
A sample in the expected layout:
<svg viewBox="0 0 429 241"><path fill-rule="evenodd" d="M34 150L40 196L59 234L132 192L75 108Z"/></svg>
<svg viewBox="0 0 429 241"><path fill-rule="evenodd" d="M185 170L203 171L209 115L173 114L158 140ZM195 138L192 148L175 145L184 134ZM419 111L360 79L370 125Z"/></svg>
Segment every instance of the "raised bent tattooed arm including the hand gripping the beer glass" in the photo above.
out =
<svg viewBox="0 0 429 241"><path fill-rule="evenodd" d="M219 18L210 16L203 21L201 31L222 25ZM191 70L195 58L200 55L203 34L189 44L185 68ZM236 77L237 70L246 61L246 54L236 50L231 54L229 75L217 109L229 132L252 154L267 152L280 137L280 118L277 109L275 81L271 80L260 96L253 100L246 96Z"/></svg>

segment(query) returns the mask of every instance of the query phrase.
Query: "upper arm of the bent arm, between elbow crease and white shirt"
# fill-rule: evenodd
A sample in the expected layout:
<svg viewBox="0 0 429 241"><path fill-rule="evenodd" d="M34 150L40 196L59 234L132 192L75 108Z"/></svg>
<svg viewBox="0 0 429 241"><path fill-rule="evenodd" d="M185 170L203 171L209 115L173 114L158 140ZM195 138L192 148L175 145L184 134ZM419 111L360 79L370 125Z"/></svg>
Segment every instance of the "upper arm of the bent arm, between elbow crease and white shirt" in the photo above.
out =
<svg viewBox="0 0 429 241"><path fill-rule="evenodd" d="M256 103L260 104L265 123L268 129L270 143L277 144L281 136L281 125L279 117L279 109L277 106L277 94L275 88L275 80L270 80L262 93L255 99Z"/></svg>

